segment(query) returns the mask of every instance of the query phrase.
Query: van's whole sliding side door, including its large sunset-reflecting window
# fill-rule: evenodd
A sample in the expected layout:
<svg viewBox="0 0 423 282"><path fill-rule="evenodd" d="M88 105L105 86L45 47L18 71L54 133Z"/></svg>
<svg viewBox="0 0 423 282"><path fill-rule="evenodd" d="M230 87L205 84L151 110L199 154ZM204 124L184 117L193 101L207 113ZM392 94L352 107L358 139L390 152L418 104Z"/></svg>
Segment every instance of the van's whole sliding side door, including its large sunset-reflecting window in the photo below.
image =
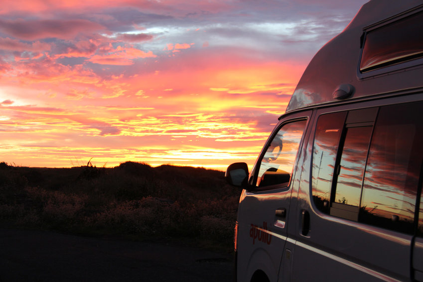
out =
<svg viewBox="0 0 423 282"><path fill-rule="evenodd" d="M292 234L293 281L410 280L422 107L317 111Z"/></svg>

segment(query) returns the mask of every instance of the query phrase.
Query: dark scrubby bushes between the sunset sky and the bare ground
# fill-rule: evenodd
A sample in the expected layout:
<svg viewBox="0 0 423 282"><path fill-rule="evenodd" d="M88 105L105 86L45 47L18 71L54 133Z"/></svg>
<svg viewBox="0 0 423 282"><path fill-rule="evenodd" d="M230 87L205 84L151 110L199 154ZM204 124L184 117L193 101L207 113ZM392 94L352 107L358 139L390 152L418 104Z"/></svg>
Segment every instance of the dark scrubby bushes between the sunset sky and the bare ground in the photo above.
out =
<svg viewBox="0 0 423 282"><path fill-rule="evenodd" d="M205 168L0 163L0 222L81 235L181 239L230 250L240 192Z"/></svg>

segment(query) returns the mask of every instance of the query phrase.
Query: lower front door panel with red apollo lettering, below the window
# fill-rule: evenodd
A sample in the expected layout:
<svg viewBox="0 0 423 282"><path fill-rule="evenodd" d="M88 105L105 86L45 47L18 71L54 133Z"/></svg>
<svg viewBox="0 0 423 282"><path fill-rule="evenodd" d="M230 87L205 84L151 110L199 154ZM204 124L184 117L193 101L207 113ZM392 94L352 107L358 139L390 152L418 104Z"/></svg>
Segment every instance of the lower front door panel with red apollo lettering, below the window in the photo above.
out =
<svg viewBox="0 0 423 282"><path fill-rule="evenodd" d="M290 192L277 189L270 193L243 193L240 202L243 212L238 218L239 281L250 281L256 270L264 271L271 281L276 281L282 256L276 251L284 248L286 224L283 228L275 226L275 211L281 206L288 207ZM259 210L264 210L266 215L257 213Z"/></svg>

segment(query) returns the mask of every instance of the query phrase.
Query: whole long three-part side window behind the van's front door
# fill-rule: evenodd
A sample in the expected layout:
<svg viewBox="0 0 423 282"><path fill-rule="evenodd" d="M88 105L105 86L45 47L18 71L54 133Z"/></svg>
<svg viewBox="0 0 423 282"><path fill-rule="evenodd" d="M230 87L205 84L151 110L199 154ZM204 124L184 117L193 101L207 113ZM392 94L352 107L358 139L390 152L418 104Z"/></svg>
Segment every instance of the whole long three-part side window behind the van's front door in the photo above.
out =
<svg viewBox="0 0 423 282"><path fill-rule="evenodd" d="M422 108L423 102L415 102L349 111L346 119L334 119L341 113L320 116L311 183L316 207L332 216L413 233L423 177Z"/></svg>

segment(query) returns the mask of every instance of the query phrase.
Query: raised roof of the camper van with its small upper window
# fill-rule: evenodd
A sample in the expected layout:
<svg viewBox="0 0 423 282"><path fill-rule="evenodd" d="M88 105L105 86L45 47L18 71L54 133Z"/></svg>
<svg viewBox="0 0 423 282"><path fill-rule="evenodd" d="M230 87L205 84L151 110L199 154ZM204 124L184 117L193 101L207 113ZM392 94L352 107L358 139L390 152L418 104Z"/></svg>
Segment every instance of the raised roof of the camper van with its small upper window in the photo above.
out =
<svg viewBox="0 0 423 282"><path fill-rule="evenodd" d="M364 4L344 31L313 57L286 112L422 89L421 19L421 0Z"/></svg>

